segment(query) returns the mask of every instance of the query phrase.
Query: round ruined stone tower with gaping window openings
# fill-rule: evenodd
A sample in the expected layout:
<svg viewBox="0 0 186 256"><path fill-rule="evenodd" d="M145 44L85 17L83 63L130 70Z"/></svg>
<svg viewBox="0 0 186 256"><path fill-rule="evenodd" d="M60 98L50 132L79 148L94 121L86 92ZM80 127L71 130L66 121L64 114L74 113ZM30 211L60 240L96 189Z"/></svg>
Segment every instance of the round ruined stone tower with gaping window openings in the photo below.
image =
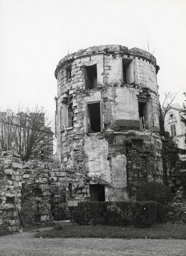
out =
<svg viewBox="0 0 186 256"><path fill-rule="evenodd" d="M141 182L163 182L158 69L152 54L121 45L93 46L59 62L60 169L52 182L64 202L128 200Z"/></svg>

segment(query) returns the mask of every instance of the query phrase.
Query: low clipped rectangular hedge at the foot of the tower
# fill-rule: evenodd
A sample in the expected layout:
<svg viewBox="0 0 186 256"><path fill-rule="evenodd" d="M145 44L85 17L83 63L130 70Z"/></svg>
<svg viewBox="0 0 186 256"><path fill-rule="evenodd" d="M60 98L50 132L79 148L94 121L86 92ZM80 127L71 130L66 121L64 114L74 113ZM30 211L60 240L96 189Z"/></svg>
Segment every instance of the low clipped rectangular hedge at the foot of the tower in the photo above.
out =
<svg viewBox="0 0 186 256"><path fill-rule="evenodd" d="M156 202L156 221L166 214L166 207ZM149 227L155 223L155 202L80 202L74 219L79 225Z"/></svg>

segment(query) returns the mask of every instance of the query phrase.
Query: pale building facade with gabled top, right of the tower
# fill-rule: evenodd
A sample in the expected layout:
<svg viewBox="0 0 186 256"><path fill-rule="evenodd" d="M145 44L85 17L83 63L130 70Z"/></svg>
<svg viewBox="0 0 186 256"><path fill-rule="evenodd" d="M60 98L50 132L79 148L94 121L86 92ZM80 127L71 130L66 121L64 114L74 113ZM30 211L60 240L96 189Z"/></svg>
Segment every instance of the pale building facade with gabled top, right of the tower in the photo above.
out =
<svg viewBox="0 0 186 256"><path fill-rule="evenodd" d="M181 116L186 113L186 109L182 108L179 103L172 104L166 113L164 126L166 131L170 133L173 140L179 148L186 149L185 133L186 127L181 122ZM179 156L181 160L186 160L186 155Z"/></svg>

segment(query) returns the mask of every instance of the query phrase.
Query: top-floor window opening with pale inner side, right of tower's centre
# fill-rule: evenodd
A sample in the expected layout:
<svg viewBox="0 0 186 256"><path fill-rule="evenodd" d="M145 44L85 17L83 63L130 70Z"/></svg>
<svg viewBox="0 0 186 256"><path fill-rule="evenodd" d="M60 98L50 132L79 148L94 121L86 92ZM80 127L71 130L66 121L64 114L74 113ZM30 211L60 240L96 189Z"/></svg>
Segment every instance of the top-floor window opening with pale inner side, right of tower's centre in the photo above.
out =
<svg viewBox="0 0 186 256"><path fill-rule="evenodd" d="M122 59L122 68L124 84L134 84L134 68L132 60Z"/></svg>

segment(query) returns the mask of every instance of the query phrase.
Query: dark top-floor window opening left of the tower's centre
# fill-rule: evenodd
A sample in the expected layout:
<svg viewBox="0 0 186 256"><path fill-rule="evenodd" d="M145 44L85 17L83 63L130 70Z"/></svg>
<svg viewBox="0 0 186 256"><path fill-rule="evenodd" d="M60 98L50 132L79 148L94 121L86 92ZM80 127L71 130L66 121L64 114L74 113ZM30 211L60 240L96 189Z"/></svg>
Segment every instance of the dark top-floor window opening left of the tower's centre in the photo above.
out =
<svg viewBox="0 0 186 256"><path fill-rule="evenodd" d="M98 84L97 65L85 67L86 89L96 89Z"/></svg>

